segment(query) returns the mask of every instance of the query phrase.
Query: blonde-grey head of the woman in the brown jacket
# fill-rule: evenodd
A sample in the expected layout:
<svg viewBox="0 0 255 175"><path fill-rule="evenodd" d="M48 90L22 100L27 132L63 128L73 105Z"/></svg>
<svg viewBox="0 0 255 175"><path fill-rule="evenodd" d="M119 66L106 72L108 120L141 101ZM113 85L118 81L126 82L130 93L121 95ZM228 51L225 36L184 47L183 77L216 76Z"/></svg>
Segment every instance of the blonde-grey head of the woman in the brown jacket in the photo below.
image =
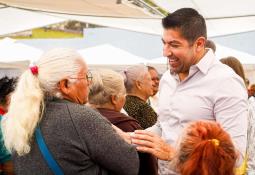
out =
<svg viewBox="0 0 255 175"><path fill-rule="evenodd" d="M108 108L119 112L126 99L122 75L108 69L94 71L92 75L89 103L96 108Z"/></svg>

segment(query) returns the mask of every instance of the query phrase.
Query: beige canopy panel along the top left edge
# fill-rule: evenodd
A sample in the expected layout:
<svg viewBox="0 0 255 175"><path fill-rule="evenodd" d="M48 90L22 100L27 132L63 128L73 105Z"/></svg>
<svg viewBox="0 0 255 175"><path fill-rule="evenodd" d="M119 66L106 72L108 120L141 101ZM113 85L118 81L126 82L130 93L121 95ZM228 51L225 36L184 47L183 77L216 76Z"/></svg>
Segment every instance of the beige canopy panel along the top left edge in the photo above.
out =
<svg viewBox="0 0 255 175"><path fill-rule="evenodd" d="M1 3L32 11L86 16L151 18L155 16L133 1L116 0L1 0ZM154 10L155 11L155 10Z"/></svg>

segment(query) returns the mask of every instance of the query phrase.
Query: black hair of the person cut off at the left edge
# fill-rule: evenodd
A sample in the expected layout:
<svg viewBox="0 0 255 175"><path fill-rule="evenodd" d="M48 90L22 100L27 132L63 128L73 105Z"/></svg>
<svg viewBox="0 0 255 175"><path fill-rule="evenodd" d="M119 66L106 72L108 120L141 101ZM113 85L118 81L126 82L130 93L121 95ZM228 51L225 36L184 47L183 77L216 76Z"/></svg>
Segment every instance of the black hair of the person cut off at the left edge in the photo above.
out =
<svg viewBox="0 0 255 175"><path fill-rule="evenodd" d="M6 97L15 89L17 79L3 77L0 79L0 104L6 103Z"/></svg>

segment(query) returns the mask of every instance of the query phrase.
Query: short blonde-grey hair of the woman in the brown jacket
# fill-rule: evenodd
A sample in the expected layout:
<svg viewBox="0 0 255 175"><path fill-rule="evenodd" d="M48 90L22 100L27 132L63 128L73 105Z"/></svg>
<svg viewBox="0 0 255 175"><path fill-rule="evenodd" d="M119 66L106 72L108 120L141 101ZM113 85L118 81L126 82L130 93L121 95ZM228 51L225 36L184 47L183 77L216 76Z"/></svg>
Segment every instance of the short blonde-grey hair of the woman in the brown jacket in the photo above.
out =
<svg viewBox="0 0 255 175"><path fill-rule="evenodd" d="M124 79L121 74L101 69L92 72L93 81L90 85L89 103L93 105L104 105L110 102L112 95L126 93Z"/></svg>

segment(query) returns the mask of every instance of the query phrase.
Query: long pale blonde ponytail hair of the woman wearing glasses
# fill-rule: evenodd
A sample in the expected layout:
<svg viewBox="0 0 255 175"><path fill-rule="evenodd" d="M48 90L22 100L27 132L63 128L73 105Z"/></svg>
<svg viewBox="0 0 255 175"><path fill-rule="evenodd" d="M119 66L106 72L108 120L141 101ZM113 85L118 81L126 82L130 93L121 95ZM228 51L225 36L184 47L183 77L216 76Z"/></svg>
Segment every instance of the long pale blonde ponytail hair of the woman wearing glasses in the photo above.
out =
<svg viewBox="0 0 255 175"><path fill-rule="evenodd" d="M44 110L46 95L59 97L57 84L75 76L81 69L82 57L71 49L53 49L41 56L38 74L26 70L11 97L9 111L2 122L5 146L18 155L30 152L30 141Z"/></svg>

